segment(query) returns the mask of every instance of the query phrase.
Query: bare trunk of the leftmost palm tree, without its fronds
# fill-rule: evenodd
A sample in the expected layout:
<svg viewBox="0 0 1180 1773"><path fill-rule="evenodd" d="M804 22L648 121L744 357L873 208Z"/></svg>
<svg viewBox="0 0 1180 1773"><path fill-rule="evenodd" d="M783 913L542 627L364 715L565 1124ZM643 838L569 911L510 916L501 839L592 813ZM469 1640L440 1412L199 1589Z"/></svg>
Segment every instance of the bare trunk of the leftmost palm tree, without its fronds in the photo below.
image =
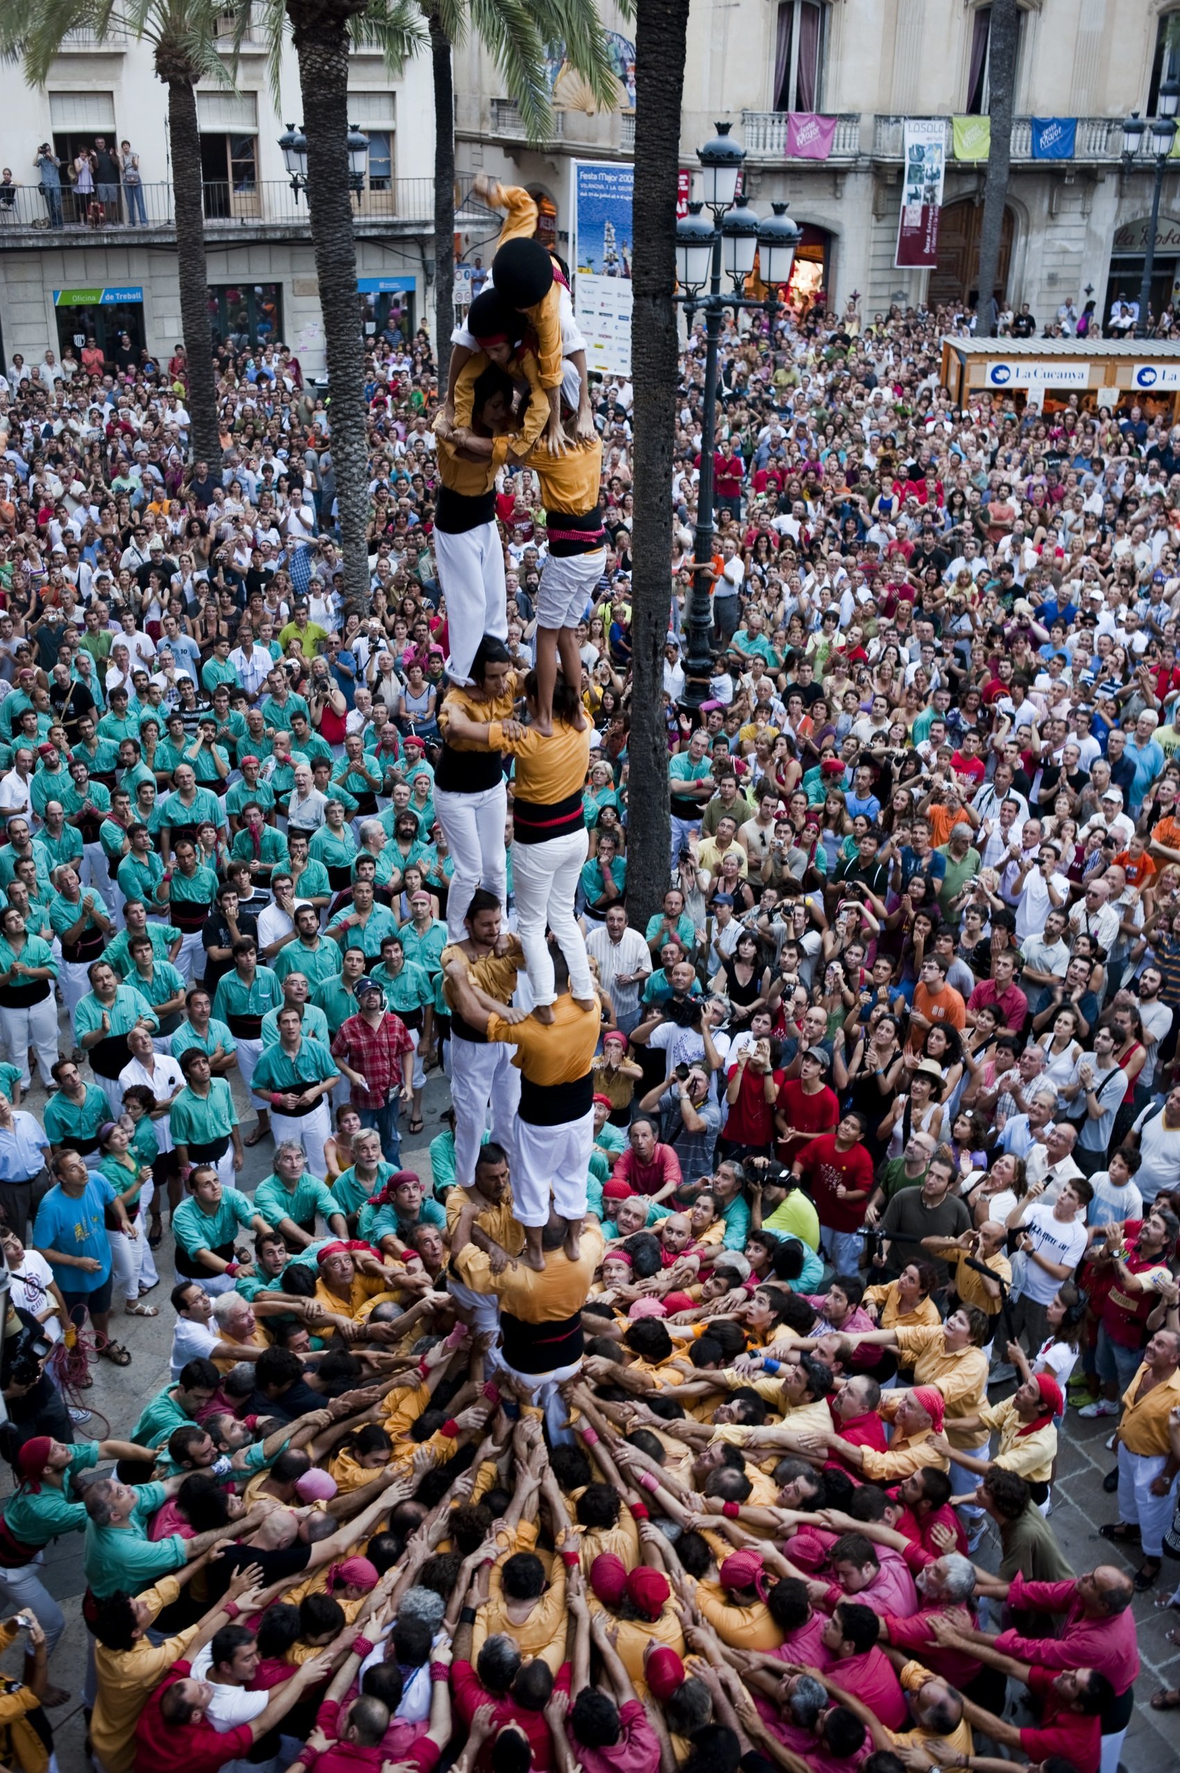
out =
<svg viewBox="0 0 1180 1773"><path fill-rule="evenodd" d="M216 477L222 438L216 424L213 326L209 324L209 271L204 255L204 200L201 131L192 78L169 80L169 137L176 199L176 257L181 285L181 332L188 356L188 415L193 461L208 461Z"/></svg>

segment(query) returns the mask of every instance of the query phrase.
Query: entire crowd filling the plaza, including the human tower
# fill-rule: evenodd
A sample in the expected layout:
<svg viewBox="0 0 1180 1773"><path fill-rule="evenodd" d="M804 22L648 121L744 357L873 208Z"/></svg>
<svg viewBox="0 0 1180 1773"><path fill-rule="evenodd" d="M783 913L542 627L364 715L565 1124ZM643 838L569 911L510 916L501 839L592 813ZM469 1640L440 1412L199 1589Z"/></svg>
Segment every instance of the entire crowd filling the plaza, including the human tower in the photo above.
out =
<svg viewBox="0 0 1180 1773"><path fill-rule="evenodd" d="M1180 1551L1180 429L958 411L937 314L728 332L694 727L694 335L635 927L632 390L483 195L449 387L369 355L364 612L282 346L220 463L181 353L0 390L0 1761L71 1539L99 1773L1114 1773ZM124 1316L170 1381L85 1440Z"/></svg>

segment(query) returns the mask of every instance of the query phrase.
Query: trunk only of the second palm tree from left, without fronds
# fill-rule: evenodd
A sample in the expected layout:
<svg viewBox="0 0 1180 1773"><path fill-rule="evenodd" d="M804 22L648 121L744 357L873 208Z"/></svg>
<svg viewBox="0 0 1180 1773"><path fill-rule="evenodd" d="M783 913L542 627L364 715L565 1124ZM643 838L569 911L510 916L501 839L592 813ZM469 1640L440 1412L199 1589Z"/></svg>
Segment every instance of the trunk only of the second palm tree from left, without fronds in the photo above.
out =
<svg viewBox="0 0 1180 1773"><path fill-rule="evenodd" d="M364 404L364 335L357 305L357 243L348 186L348 7L287 5L300 62L307 137L307 213L316 252L319 312L328 360L328 424L346 608L369 599L369 441Z"/></svg>

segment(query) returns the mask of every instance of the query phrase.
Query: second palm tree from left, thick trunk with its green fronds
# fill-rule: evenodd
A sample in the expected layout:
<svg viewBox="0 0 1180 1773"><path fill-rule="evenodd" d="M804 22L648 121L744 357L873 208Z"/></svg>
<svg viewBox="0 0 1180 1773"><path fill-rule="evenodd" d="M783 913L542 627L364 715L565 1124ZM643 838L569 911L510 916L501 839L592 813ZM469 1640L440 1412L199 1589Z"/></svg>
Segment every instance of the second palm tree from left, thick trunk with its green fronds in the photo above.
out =
<svg viewBox="0 0 1180 1773"><path fill-rule="evenodd" d="M245 32L250 7L238 14ZM380 48L397 69L422 43L412 0L284 0L266 11L270 82L279 98L282 35L289 23L300 67L307 137L311 218L319 312L330 387L330 441L344 553L344 599L369 598L369 438L364 404L364 335L357 310L357 241L348 183L348 53L353 43Z"/></svg>

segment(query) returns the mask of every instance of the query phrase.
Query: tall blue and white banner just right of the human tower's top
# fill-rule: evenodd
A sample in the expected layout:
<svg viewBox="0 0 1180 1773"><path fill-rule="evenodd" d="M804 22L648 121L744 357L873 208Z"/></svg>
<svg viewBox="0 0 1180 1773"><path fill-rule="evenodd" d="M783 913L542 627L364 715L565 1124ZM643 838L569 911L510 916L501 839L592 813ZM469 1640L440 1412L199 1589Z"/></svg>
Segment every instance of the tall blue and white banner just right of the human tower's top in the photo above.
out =
<svg viewBox="0 0 1180 1773"><path fill-rule="evenodd" d="M635 168L571 161L570 262L573 305L586 335L586 367L632 372L632 191Z"/></svg>

